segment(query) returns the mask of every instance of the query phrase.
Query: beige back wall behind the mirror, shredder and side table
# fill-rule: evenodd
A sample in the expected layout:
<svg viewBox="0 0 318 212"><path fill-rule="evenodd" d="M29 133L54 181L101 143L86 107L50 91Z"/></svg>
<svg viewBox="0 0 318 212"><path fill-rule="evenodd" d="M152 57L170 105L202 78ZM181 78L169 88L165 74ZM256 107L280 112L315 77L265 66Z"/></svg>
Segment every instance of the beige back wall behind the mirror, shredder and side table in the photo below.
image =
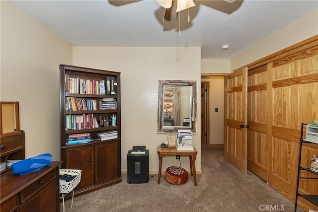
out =
<svg viewBox="0 0 318 212"><path fill-rule="evenodd" d="M200 47L74 47L73 65L121 72L122 170L127 171L127 152L133 145L150 151L150 173L158 173L157 146L169 134L157 134L158 80L197 80L200 86ZM198 98L200 108L200 98ZM200 120L200 112L197 112ZM200 132L200 121L197 122ZM198 150L196 169L201 170L200 133L193 135ZM190 170L189 158L181 157ZM162 170L179 165L174 157L163 159Z"/></svg>

